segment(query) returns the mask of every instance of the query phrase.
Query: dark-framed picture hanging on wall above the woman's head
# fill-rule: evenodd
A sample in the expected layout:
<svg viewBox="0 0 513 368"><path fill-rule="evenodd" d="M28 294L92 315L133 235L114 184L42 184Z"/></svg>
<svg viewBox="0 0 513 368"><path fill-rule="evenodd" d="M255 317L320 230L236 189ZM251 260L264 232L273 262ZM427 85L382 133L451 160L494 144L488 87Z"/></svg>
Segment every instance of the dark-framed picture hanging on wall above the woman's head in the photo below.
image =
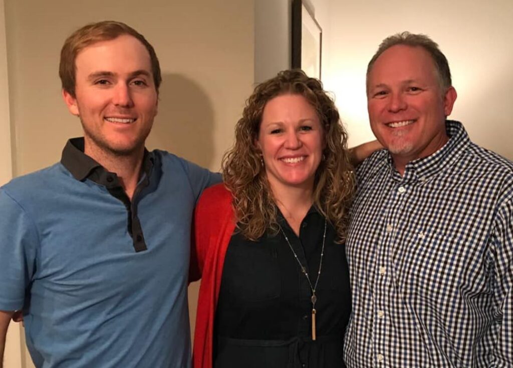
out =
<svg viewBox="0 0 513 368"><path fill-rule="evenodd" d="M292 0L292 68L321 79L322 28L303 0Z"/></svg>

